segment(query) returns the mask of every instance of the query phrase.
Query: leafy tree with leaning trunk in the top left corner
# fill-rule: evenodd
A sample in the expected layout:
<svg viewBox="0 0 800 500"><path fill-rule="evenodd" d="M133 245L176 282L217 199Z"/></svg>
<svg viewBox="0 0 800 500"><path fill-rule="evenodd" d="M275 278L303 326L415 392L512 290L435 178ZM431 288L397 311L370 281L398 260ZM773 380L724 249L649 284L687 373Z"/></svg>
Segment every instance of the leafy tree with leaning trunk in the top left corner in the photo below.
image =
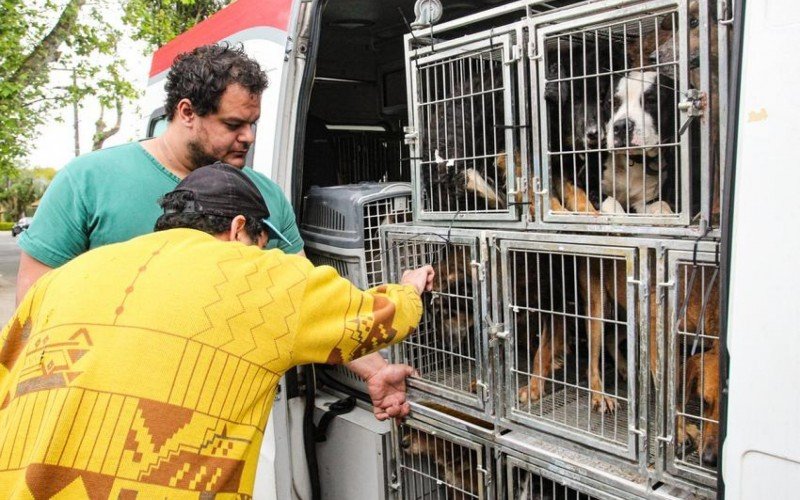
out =
<svg viewBox="0 0 800 500"><path fill-rule="evenodd" d="M122 33L102 15L112 2L0 0L0 175L16 170L54 108L89 95L106 107L135 98L114 57ZM57 68L73 71L75 83L49 85Z"/></svg>

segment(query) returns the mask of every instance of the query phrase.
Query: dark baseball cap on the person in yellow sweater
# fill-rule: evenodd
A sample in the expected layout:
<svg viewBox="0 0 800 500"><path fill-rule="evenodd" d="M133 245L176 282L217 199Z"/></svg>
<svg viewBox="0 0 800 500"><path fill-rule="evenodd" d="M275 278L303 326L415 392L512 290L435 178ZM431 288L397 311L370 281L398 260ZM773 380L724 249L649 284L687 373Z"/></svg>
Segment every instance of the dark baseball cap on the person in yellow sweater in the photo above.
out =
<svg viewBox="0 0 800 500"><path fill-rule="evenodd" d="M264 197L239 168L222 162L200 167L184 177L174 191L190 192L193 199L183 210L165 210L164 213L196 213L230 218L246 215L262 221L267 226L270 239L279 238L291 244L270 222Z"/></svg>

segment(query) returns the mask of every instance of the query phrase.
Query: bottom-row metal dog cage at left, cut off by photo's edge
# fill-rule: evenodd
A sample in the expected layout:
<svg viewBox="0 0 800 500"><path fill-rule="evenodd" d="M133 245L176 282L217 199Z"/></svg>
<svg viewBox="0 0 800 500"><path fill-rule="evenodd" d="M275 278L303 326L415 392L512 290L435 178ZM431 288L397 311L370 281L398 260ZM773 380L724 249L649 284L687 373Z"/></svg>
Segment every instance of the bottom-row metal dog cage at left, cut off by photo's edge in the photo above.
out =
<svg viewBox="0 0 800 500"><path fill-rule="evenodd" d="M394 437L399 498L493 498L489 447L416 420L397 425Z"/></svg>

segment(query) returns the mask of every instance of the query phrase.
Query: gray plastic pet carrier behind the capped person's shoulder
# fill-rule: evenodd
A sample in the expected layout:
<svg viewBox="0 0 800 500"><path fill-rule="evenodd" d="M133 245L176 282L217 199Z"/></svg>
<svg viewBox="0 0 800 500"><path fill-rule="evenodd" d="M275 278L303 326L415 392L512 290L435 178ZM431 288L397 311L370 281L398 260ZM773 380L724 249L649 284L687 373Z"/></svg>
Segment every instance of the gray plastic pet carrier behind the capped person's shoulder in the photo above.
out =
<svg viewBox="0 0 800 500"><path fill-rule="evenodd" d="M411 221L411 184L362 182L309 189L300 233L315 265L336 269L358 287L383 283L384 224Z"/></svg>

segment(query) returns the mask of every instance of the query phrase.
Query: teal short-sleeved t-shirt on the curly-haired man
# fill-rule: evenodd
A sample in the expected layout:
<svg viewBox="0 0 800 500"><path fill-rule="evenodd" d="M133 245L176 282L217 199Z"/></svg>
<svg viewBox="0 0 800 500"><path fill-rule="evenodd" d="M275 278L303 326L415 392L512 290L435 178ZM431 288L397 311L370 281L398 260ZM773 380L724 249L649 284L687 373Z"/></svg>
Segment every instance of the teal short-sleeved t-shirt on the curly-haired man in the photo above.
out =
<svg viewBox="0 0 800 500"><path fill-rule="evenodd" d="M283 191L252 168L244 172L264 196L270 221L291 241L275 239L267 247L301 251L303 240ZM158 199L178 182L138 142L78 157L53 179L19 245L39 262L58 267L92 248L150 233L162 213Z"/></svg>

